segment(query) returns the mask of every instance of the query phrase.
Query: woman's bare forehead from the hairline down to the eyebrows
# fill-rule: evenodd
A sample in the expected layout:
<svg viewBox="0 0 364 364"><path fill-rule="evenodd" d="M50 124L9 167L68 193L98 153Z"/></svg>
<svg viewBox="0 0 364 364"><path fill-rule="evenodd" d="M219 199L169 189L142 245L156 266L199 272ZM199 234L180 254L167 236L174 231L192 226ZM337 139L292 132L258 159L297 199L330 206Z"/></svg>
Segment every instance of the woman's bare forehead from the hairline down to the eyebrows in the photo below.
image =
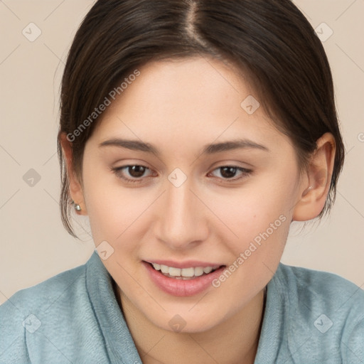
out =
<svg viewBox="0 0 364 364"><path fill-rule="evenodd" d="M258 144L285 139L235 68L211 58L148 63L102 115L95 137L208 144L236 137Z"/></svg>

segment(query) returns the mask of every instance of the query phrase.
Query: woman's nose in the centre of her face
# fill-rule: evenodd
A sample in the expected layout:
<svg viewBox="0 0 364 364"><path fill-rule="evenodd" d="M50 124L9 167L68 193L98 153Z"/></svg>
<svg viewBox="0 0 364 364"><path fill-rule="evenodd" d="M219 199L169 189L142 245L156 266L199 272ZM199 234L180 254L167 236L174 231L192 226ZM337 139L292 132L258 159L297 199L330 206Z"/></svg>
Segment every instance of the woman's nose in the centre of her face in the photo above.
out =
<svg viewBox="0 0 364 364"><path fill-rule="evenodd" d="M157 237L172 250L195 247L208 237L205 206L188 180L176 187L167 181L156 222Z"/></svg>

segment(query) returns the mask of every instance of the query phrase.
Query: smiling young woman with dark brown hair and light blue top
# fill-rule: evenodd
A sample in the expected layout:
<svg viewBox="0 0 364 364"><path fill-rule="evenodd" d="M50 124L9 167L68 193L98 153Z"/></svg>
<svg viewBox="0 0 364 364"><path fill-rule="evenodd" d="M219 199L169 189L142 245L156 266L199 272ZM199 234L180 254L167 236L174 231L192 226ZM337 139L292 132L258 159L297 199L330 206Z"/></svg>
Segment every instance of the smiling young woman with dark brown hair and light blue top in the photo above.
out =
<svg viewBox="0 0 364 364"><path fill-rule="evenodd" d="M97 1L58 150L63 223L88 215L97 252L1 306L1 363L363 363L363 291L279 262L344 156L291 1Z"/></svg>

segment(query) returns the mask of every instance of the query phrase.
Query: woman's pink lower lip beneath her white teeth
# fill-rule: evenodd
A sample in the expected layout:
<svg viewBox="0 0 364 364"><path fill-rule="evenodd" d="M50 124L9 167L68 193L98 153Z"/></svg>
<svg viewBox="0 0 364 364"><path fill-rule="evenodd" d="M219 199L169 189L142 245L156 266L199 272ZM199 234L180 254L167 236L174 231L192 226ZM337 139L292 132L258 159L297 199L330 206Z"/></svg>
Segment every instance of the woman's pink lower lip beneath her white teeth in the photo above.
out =
<svg viewBox="0 0 364 364"><path fill-rule="evenodd" d="M149 277L162 291L173 296L186 297L199 294L212 286L214 279L218 278L225 267L220 267L209 274L203 274L193 279L174 279L164 276L161 271L151 267L151 264L143 262Z"/></svg>

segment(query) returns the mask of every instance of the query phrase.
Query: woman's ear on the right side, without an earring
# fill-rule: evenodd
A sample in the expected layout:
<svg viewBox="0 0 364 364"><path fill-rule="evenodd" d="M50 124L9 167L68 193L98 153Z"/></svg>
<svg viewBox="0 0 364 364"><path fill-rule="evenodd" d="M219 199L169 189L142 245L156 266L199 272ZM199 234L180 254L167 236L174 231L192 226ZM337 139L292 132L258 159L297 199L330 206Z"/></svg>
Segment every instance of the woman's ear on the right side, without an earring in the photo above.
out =
<svg viewBox="0 0 364 364"><path fill-rule="evenodd" d="M292 220L308 221L321 213L330 190L335 153L335 138L331 133L323 134L316 141L316 151L309 161L307 175L302 180L300 198L294 206Z"/></svg>

